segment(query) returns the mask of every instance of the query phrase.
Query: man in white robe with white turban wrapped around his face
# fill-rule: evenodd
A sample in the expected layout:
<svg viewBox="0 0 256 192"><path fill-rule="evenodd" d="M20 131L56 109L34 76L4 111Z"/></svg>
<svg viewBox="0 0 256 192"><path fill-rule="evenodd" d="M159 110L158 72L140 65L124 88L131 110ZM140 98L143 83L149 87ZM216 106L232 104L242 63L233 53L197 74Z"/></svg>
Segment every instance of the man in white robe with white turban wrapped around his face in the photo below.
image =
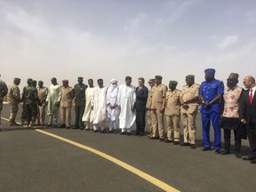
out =
<svg viewBox="0 0 256 192"><path fill-rule="evenodd" d="M117 128L119 108L117 106L117 94L119 87L115 78L111 79L110 87L107 92L107 111L108 111L108 122L109 122L109 131L113 132Z"/></svg>

